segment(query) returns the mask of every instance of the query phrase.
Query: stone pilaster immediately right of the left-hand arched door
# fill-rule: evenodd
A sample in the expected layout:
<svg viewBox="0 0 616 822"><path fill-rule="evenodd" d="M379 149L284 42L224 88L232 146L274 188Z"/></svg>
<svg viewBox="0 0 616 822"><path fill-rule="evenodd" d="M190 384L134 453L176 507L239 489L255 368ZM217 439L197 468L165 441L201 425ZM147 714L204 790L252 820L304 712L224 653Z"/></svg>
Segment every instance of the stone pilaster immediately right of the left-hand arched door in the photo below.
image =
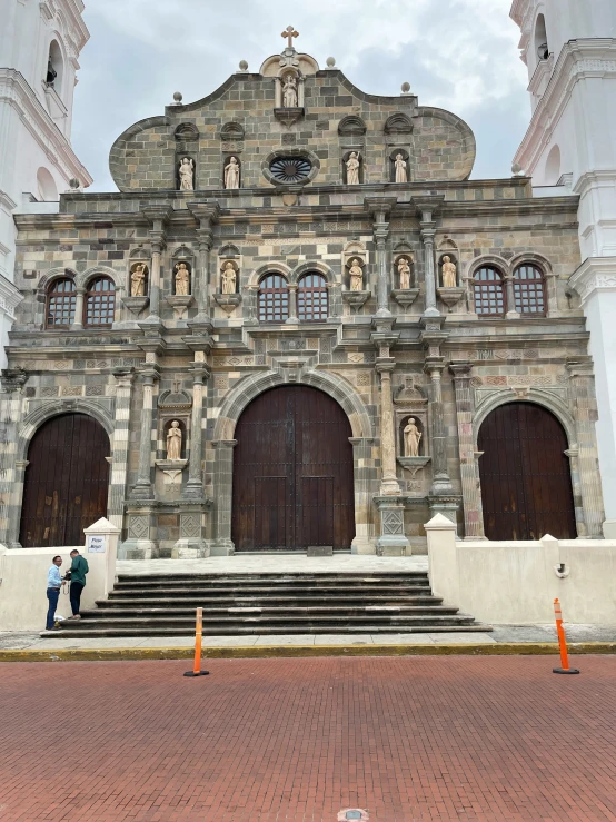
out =
<svg viewBox="0 0 616 822"><path fill-rule="evenodd" d="M135 372L132 368L115 368L116 418L113 425L113 450L111 452L111 482L107 518L116 527L123 528L125 499L128 473L128 437L130 422L130 399Z"/></svg>

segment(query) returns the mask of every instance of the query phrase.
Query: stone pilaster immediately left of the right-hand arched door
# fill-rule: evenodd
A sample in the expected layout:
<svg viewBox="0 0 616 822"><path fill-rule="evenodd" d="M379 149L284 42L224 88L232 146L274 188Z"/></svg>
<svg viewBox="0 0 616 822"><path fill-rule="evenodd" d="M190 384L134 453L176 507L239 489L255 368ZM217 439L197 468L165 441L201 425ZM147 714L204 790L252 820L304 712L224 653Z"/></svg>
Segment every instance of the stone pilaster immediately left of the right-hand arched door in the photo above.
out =
<svg viewBox="0 0 616 822"><path fill-rule="evenodd" d="M475 438L473 435L471 368L470 363L451 363L449 366L449 370L454 375L454 386L456 389L465 538L485 539L481 489L479 486L479 472L475 457Z"/></svg>

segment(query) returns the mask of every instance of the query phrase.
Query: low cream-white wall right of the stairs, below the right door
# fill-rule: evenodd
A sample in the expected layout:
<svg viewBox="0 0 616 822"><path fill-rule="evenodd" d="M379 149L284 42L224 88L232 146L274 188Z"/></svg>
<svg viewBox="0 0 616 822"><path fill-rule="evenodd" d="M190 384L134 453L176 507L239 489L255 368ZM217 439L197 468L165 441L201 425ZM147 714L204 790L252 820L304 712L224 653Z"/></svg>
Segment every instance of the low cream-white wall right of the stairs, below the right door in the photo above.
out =
<svg viewBox="0 0 616 822"><path fill-rule="evenodd" d="M466 542L441 515L426 533L433 592L480 622L554 624L558 597L568 623L616 625L614 539Z"/></svg>

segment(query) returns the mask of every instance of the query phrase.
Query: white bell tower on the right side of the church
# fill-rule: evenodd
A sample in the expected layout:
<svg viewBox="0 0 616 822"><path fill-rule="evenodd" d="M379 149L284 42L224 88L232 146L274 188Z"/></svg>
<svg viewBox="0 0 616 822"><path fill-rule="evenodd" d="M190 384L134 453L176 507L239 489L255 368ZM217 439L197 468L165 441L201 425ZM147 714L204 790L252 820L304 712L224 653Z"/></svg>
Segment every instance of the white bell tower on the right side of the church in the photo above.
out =
<svg viewBox="0 0 616 822"><path fill-rule="evenodd" d="M590 331L606 522L616 538L616 2L514 0L533 117L514 162L542 196L579 196L569 284Z"/></svg>

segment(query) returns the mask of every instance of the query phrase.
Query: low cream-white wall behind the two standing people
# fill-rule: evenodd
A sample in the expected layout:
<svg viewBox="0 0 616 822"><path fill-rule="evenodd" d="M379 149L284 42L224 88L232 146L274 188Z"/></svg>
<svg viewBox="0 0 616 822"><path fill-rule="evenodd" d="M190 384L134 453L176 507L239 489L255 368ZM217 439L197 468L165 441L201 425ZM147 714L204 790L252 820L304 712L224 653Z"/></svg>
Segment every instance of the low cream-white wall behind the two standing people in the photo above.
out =
<svg viewBox="0 0 616 822"><path fill-rule="evenodd" d="M87 533L106 536L107 549L105 554L92 554L86 547L77 546L90 567L81 595L82 608L91 608L96 600L107 598L113 587L119 529L102 518L87 528ZM0 631L44 631L47 573L58 554L63 561L60 573L68 571L71 549L69 546L9 551L0 546ZM60 594L56 613L70 616L68 594Z"/></svg>

